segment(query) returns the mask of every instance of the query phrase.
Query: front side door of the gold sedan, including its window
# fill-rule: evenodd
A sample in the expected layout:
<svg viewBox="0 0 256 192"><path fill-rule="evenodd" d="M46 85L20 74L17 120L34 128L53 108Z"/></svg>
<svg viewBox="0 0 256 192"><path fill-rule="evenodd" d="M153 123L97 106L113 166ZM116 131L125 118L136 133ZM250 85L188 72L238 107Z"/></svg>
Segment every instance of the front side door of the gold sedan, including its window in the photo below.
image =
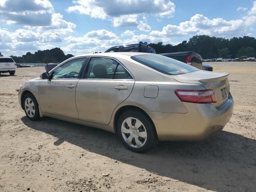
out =
<svg viewBox="0 0 256 192"><path fill-rule="evenodd" d="M78 119L76 86L88 58L69 60L56 68L50 79L39 85L40 107L43 113Z"/></svg>

